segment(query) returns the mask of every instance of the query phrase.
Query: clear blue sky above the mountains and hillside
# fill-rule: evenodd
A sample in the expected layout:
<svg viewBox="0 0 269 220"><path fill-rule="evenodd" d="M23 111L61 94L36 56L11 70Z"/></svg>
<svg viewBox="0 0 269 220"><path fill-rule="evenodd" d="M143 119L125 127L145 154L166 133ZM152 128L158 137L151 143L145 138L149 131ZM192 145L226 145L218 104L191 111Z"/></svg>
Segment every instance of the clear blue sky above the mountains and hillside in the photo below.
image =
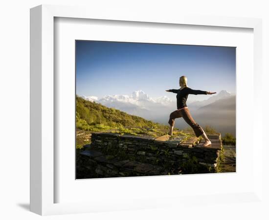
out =
<svg viewBox="0 0 269 220"><path fill-rule="evenodd" d="M76 41L76 94L131 94L173 98L166 89L235 92L235 47ZM208 98L204 97L203 99ZM197 99L197 98L196 98Z"/></svg>

